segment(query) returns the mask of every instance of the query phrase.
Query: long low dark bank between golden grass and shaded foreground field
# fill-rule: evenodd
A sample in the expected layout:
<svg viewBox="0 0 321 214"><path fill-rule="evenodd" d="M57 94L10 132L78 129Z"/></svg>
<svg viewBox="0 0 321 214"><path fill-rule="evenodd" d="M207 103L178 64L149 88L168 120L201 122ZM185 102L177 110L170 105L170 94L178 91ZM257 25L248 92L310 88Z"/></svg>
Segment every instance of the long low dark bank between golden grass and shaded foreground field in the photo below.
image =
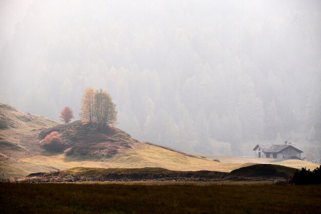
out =
<svg viewBox="0 0 321 214"><path fill-rule="evenodd" d="M21 182L75 182L75 181L218 181L226 172L174 171L164 168L84 168L76 167L63 171L29 174Z"/></svg>

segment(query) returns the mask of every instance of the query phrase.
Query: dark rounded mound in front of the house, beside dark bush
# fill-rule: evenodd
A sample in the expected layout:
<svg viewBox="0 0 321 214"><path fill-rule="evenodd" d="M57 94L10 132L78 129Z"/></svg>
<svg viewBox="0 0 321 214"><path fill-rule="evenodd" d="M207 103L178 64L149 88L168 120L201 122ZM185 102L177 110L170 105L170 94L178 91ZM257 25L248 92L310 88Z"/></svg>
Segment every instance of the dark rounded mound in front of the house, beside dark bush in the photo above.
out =
<svg viewBox="0 0 321 214"><path fill-rule="evenodd" d="M296 169L272 165L272 164L255 164L251 166L241 167L231 171L226 178L237 179L237 180L248 180L248 179L275 179L284 178L288 179L293 176Z"/></svg>

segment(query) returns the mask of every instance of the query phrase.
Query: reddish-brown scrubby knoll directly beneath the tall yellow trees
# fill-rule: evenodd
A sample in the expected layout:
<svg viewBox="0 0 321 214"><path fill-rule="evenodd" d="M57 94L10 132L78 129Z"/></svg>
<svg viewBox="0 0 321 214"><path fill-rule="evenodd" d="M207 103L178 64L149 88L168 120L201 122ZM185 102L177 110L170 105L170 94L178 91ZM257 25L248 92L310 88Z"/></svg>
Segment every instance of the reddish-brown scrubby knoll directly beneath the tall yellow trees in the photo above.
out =
<svg viewBox="0 0 321 214"><path fill-rule="evenodd" d="M107 126L98 129L96 124L83 124L75 121L61 124L39 133L39 139L57 131L65 143L67 156L81 156L82 158L110 158L121 150L132 148L131 145L139 141L121 129Z"/></svg>

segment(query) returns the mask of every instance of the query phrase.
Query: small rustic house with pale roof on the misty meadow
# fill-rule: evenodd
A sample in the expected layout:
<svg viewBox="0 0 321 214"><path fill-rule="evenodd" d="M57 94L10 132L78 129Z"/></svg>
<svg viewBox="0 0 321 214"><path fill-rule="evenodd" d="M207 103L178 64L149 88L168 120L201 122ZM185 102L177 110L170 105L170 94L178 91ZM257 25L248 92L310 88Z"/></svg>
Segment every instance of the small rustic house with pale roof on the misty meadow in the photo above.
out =
<svg viewBox="0 0 321 214"><path fill-rule="evenodd" d="M255 158L301 159L303 152L287 141L284 144L257 144Z"/></svg>

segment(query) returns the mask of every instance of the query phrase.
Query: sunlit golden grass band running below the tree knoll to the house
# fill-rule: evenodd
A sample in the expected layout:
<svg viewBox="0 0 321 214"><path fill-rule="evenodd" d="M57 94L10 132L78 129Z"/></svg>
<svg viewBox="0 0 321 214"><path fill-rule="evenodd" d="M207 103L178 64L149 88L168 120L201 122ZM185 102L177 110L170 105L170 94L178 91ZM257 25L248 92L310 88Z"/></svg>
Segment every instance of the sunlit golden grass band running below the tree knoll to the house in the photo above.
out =
<svg viewBox="0 0 321 214"><path fill-rule="evenodd" d="M300 160L275 160L234 157L230 155L215 155L220 162L212 159L192 158L181 153L170 151L162 147L145 143L135 143L133 149L125 149L114 157L104 160L81 160L66 157L64 154L37 154L21 158L15 163L0 164L0 172L5 177L24 177L32 172L52 171L73 167L98 167L98 168L144 168L162 167L170 170L196 171L211 170L230 172L234 169L250 166L256 163L271 163L292 168L307 167L314 169L317 164ZM276 161L276 162L275 162ZM16 171L15 171L16 170Z"/></svg>

